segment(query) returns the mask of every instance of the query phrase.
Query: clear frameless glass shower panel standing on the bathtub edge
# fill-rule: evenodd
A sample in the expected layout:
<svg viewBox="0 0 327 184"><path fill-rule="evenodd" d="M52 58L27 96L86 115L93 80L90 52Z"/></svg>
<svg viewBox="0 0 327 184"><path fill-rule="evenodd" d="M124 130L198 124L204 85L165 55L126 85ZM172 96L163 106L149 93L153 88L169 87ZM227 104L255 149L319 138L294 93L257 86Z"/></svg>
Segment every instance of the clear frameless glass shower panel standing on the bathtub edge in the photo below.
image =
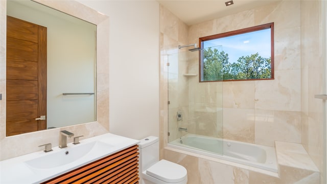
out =
<svg viewBox="0 0 327 184"><path fill-rule="evenodd" d="M212 70L222 75L222 62L208 50L219 53L222 47L204 49L206 60L214 58ZM187 50L168 55L168 142L222 154L222 82L199 82L199 56L199 51Z"/></svg>

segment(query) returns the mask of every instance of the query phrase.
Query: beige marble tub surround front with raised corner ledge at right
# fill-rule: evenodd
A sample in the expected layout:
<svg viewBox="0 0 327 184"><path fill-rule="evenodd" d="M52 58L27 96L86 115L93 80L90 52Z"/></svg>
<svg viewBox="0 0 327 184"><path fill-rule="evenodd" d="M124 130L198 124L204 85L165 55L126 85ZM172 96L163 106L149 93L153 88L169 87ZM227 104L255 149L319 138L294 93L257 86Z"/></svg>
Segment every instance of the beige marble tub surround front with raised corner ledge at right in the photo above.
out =
<svg viewBox="0 0 327 184"><path fill-rule="evenodd" d="M165 148L164 157L180 164L188 171L188 183L319 183L319 172L307 152L297 143L279 142L278 173L259 168L231 163L218 158L184 152L174 148ZM287 147L283 147L286 143ZM289 146L291 145L291 146ZM298 159L301 158L301 159Z"/></svg>

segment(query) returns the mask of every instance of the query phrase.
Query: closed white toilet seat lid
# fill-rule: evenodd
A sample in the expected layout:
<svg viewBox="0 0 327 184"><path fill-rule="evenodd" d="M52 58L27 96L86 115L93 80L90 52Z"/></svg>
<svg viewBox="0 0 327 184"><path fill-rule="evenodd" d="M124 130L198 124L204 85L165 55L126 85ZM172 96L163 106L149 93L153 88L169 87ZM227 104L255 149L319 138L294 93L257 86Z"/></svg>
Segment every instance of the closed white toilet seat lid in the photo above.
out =
<svg viewBox="0 0 327 184"><path fill-rule="evenodd" d="M183 166L164 159L147 169L147 174L166 182L180 182L188 177Z"/></svg>

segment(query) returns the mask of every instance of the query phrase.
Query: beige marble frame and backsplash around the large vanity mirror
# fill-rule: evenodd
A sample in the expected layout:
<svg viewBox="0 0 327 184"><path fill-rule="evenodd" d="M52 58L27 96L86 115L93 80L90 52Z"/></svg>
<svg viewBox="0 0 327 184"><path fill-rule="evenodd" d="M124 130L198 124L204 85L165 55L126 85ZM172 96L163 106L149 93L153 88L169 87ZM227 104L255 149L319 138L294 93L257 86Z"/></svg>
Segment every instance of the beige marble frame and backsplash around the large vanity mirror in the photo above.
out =
<svg viewBox="0 0 327 184"><path fill-rule="evenodd" d="M58 146L61 130L84 135L84 139L109 132L109 17L76 1L33 1L97 26L97 121L6 136L7 1L0 1L0 160L39 151L38 146L46 143Z"/></svg>

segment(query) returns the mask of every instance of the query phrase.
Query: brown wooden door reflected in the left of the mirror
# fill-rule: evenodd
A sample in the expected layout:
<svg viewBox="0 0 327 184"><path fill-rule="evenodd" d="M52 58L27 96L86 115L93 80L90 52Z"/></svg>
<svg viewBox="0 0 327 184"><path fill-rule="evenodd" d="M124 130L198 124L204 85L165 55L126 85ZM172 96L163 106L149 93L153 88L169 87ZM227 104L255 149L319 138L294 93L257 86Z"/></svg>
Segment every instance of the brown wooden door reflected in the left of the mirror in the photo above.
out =
<svg viewBox="0 0 327 184"><path fill-rule="evenodd" d="M46 31L7 16L7 136L46 129Z"/></svg>

